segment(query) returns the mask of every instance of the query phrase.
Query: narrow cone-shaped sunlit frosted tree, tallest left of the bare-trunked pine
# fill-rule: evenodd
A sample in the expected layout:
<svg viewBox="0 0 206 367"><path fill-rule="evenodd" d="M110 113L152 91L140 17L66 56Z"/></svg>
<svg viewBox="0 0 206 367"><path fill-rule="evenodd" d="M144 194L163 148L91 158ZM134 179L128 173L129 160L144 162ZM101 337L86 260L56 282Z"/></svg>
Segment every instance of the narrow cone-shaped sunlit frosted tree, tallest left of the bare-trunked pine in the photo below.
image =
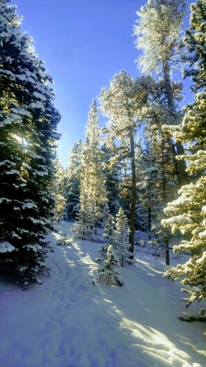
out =
<svg viewBox="0 0 206 367"><path fill-rule="evenodd" d="M74 233L80 236L80 227L87 227L87 238L94 238L96 228L108 214L108 199L103 175L100 129L96 101L90 106L80 165L80 207ZM81 225L82 222L82 225ZM90 235L89 235L90 234Z"/></svg>

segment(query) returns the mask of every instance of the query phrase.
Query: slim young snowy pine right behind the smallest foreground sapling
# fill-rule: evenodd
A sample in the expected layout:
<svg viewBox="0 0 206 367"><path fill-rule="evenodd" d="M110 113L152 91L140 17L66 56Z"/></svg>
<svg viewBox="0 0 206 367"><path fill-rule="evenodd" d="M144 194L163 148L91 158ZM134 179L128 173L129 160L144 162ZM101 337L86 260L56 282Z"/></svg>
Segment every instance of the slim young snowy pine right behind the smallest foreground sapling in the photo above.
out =
<svg viewBox="0 0 206 367"><path fill-rule="evenodd" d="M126 217L123 209L120 208L116 217L117 230L115 234L114 250L117 252L119 257L120 265L123 266L125 263L131 263L130 259L130 230L128 226L128 218Z"/></svg>

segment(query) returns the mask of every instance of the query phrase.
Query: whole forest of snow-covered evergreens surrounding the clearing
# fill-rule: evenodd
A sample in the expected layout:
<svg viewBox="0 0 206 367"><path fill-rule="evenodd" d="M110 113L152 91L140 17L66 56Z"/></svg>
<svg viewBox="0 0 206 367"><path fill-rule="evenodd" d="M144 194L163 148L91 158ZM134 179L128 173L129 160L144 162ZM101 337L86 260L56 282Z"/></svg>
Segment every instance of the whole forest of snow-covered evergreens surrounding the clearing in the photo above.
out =
<svg viewBox="0 0 206 367"><path fill-rule="evenodd" d="M206 297L205 0L191 4L182 33L186 10L184 0L148 0L137 11L141 74L121 70L94 96L85 140L64 169L53 80L16 7L0 0L3 279L41 284L50 272L46 236L64 219L74 224L69 240L101 243L97 282L123 286L119 267L132 266L141 248L164 257L164 277L185 286L187 307ZM186 78L193 101L180 108ZM187 261L170 266L171 250Z"/></svg>

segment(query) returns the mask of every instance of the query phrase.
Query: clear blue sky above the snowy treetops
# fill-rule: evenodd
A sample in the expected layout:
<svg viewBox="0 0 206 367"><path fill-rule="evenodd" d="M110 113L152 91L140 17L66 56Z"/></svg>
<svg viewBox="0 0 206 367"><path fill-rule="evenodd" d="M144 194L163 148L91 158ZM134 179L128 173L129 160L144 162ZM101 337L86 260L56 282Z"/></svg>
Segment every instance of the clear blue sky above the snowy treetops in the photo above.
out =
<svg viewBox="0 0 206 367"><path fill-rule="evenodd" d="M55 106L62 115L58 156L67 165L74 142L85 137L92 99L125 69L139 75L132 37L135 12L146 0L12 0L23 15L22 31L55 81Z"/></svg>

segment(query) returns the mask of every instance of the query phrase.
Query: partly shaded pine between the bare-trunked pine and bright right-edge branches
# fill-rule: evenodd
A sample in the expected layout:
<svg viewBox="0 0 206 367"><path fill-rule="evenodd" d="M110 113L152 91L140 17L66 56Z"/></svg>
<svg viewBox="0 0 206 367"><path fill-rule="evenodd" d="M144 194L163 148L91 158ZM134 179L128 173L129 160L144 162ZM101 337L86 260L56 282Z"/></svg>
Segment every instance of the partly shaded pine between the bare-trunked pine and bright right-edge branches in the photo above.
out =
<svg viewBox="0 0 206 367"><path fill-rule="evenodd" d="M174 197L178 179L171 138L162 130L164 121L169 120L169 111L161 103L161 93L157 95L144 127L145 149L140 158L138 188L140 205L148 209L148 237L155 248L164 244L166 265L169 265L171 235L161 226L161 219L164 207Z"/></svg>

